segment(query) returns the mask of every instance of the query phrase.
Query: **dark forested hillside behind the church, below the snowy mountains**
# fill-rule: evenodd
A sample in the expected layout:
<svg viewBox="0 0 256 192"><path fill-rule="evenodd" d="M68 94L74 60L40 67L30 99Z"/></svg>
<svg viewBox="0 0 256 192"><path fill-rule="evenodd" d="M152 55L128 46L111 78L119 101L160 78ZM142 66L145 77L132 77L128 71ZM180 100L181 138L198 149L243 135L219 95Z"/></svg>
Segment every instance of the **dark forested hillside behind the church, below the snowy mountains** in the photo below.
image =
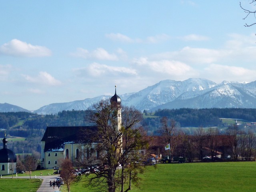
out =
<svg viewBox="0 0 256 192"><path fill-rule="evenodd" d="M86 126L88 111L62 111L57 115L37 115L28 112L0 113L0 128L6 129L8 148L15 153L40 152L41 139L47 126ZM160 120L166 116L176 122L178 128L183 127L228 127L220 118L243 119L256 122L256 109L213 108L213 109L176 109L157 110L154 113L144 112L143 126L148 134L159 134L162 126ZM4 132L0 132L3 138Z"/></svg>

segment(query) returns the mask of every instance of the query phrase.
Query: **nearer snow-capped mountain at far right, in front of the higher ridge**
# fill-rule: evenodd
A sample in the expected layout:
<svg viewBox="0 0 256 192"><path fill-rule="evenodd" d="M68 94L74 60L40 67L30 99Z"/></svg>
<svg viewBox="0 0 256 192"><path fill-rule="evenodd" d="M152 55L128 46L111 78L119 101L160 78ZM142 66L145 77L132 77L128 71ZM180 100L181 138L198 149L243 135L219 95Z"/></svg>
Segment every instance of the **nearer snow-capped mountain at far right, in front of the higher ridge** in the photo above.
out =
<svg viewBox="0 0 256 192"><path fill-rule="evenodd" d="M152 108L256 108L256 82L220 84L196 92L184 92L175 100Z"/></svg>

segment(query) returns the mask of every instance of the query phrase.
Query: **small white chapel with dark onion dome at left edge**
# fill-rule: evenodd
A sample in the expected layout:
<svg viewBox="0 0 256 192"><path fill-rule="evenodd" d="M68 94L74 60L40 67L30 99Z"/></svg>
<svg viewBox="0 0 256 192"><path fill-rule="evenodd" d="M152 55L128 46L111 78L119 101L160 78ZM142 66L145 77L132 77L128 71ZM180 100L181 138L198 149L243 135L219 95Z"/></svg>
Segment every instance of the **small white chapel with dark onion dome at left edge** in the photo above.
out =
<svg viewBox="0 0 256 192"><path fill-rule="evenodd" d="M7 148L7 138L4 134L3 148L0 149L0 175L16 174L16 154Z"/></svg>

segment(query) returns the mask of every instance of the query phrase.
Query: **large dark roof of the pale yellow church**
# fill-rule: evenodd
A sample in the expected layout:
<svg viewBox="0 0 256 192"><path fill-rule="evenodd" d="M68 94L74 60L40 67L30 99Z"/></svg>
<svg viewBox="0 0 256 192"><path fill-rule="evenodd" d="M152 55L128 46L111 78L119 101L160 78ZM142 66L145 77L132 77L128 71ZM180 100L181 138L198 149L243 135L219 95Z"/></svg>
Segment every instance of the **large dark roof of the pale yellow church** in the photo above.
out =
<svg viewBox="0 0 256 192"><path fill-rule="evenodd" d="M96 131L96 126L47 127L44 152L63 151L65 143L89 143Z"/></svg>

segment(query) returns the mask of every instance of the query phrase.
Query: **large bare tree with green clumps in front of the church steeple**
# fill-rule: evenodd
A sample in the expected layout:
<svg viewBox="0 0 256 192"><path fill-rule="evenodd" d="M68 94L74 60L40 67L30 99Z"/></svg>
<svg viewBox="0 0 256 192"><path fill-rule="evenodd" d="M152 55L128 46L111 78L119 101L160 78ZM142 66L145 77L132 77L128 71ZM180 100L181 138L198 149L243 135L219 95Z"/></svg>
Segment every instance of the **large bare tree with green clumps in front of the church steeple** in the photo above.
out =
<svg viewBox="0 0 256 192"><path fill-rule="evenodd" d="M89 185L97 186L100 191L115 192L116 188L120 188L121 192L128 191L131 189L131 182L138 184L138 173L143 172L142 164L138 163L143 160L143 154L138 151L148 147L148 140L145 139L145 132L139 124L142 114L134 107L124 107L122 126L119 127L120 109L121 106L111 104L109 100L102 100L94 104L89 117L98 127L91 143L97 143L95 150L100 152L97 160L106 166L91 175ZM127 169L124 169L124 166ZM126 189L125 184L128 184Z"/></svg>

